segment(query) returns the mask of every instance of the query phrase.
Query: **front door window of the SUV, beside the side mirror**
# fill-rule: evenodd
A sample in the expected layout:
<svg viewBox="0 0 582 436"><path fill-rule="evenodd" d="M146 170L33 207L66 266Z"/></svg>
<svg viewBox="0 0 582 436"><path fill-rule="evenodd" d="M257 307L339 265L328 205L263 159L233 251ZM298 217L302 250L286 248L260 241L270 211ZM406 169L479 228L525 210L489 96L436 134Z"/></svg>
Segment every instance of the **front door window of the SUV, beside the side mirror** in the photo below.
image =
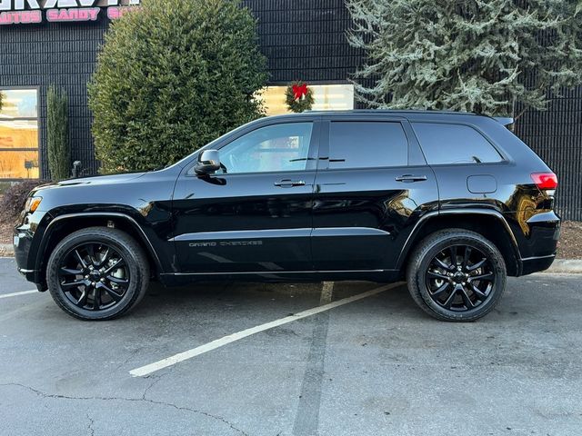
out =
<svg viewBox="0 0 582 436"><path fill-rule="evenodd" d="M271 173L306 169L313 123L269 125L221 148L222 173ZM220 172L219 172L220 173Z"/></svg>

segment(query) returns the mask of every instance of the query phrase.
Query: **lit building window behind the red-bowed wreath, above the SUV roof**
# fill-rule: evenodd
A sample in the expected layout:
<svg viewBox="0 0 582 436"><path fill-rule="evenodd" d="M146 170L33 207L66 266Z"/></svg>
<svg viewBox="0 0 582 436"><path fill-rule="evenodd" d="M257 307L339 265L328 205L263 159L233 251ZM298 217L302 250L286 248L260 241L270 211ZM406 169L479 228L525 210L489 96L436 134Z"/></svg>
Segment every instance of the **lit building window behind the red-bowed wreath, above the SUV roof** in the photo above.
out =
<svg viewBox="0 0 582 436"><path fill-rule="evenodd" d="M309 84L313 90L314 111L354 109L353 84ZM267 115L289 114L285 102L286 86L268 86L261 94Z"/></svg>

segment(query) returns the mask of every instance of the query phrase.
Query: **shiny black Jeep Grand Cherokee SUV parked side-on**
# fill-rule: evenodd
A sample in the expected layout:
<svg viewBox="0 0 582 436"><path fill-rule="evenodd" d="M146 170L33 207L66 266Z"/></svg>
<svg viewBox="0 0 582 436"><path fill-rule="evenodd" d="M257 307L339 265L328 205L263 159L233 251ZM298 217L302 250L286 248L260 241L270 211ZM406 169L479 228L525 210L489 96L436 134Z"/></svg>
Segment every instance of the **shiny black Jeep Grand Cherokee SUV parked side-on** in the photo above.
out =
<svg viewBox="0 0 582 436"><path fill-rule="evenodd" d="M557 177L507 130L465 113L269 117L162 171L36 188L19 271L84 320L165 285L395 282L439 320L490 312L506 277L547 269Z"/></svg>

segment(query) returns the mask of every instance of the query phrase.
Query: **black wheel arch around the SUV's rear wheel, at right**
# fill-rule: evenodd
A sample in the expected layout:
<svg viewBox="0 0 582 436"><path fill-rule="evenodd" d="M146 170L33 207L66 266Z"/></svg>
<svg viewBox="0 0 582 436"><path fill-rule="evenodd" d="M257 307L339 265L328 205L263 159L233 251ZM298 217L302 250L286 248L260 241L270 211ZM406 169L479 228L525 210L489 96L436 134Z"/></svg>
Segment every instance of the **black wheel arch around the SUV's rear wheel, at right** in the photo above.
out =
<svg viewBox="0 0 582 436"><path fill-rule="evenodd" d="M398 257L396 268L406 269L406 263L417 243L427 235L439 230L460 228L479 233L497 246L502 254L507 275L518 276L521 273L520 253L517 240L509 224L501 213L492 210L447 210L426 213L408 236L405 246Z"/></svg>

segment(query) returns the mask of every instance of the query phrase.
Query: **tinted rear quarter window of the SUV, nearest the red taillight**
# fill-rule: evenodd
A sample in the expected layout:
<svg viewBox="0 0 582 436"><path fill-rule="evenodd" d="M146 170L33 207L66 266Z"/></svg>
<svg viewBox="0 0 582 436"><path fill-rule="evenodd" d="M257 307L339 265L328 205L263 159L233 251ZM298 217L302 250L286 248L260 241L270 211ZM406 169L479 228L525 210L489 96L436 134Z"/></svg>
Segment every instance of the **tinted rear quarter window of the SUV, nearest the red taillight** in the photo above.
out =
<svg viewBox="0 0 582 436"><path fill-rule="evenodd" d="M428 164L493 163L503 158L487 139L468 125L413 123Z"/></svg>

